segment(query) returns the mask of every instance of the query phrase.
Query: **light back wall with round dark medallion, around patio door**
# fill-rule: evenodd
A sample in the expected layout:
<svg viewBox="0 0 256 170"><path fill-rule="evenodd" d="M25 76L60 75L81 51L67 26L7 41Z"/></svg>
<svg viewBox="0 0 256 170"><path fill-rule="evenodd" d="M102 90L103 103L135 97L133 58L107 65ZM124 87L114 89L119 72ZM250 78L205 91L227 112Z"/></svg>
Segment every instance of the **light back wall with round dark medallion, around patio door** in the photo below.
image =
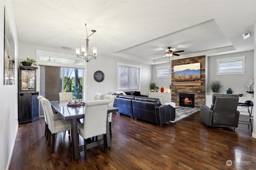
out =
<svg viewBox="0 0 256 170"><path fill-rule="evenodd" d="M36 50L74 55L74 58L76 58L75 51L19 43L19 61L22 61L27 57L36 60ZM85 98L87 100L93 100L94 94L96 92L107 94L108 92L113 92L117 90L117 63L126 63L141 66L141 94L148 95L148 90L150 89L149 84L151 82L151 65L132 61L125 61L119 59L118 57L112 57L108 55L98 55L96 60L91 60L86 64L87 66L85 67ZM105 79L103 80L103 82L96 82L94 80L93 75L94 72L97 70L101 70L102 72L104 72ZM39 89L38 84L39 83L37 83L37 89Z"/></svg>

